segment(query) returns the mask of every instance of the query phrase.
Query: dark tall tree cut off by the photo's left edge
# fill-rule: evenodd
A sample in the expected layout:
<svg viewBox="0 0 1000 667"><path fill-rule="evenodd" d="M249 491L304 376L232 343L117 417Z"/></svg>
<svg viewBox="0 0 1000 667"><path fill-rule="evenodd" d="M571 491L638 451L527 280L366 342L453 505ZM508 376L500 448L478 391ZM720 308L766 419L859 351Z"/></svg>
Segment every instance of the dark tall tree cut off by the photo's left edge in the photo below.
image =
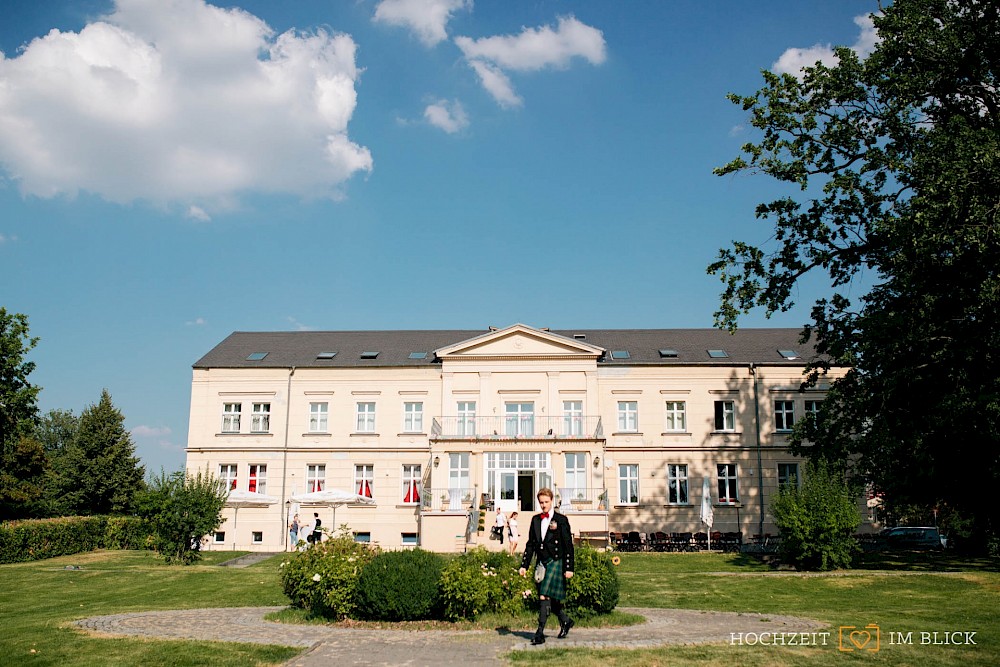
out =
<svg viewBox="0 0 1000 667"><path fill-rule="evenodd" d="M35 364L25 359L37 343L28 334L27 316L0 307L0 518L24 516L42 493L47 461L30 437L39 387L28 381Z"/></svg>

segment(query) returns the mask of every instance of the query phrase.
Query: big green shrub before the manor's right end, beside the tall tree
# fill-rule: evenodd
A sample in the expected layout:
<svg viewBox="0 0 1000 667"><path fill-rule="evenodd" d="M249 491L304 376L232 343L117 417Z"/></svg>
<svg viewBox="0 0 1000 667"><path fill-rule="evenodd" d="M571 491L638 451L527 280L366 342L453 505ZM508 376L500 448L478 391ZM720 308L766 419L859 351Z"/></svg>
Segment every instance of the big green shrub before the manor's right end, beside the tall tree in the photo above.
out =
<svg viewBox="0 0 1000 667"><path fill-rule="evenodd" d="M781 530L781 559L800 570L850 567L860 550L857 494L825 463L807 465L801 487L782 487L771 513Z"/></svg>

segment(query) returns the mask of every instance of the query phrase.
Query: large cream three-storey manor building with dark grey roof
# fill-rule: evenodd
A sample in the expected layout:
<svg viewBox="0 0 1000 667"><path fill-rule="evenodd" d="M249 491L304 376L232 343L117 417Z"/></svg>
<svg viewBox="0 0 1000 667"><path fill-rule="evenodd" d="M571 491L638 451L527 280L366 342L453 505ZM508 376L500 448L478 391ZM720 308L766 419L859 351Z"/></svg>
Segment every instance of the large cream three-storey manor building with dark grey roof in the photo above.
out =
<svg viewBox="0 0 1000 667"><path fill-rule="evenodd" d="M818 409L797 329L236 332L194 364L189 471L267 503L224 510L209 548L280 551L319 513L383 548L483 543L494 508L551 487L574 532L776 533L787 447ZM340 489L372 504L302 504ZM486 506L486 532L479 530ZM333 524L336 525L333 525ZM522 530L523 532L523 530Z"/></svg>

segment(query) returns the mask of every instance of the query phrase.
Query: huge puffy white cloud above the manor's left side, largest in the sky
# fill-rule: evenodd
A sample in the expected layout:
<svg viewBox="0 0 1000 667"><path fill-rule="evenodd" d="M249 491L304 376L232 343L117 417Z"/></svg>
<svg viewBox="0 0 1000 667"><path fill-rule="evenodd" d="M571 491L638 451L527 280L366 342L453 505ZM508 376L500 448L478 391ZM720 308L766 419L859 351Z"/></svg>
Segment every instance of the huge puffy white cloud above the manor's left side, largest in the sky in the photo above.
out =
<svg viewBox="0 0 1000 667"><path fill-rule="evenodd" d="M117 0L0 53L0 165L26 195L197 202L189 214L246 191L337 197L372 169L347 136L355 50L204 0Z"/></svg>

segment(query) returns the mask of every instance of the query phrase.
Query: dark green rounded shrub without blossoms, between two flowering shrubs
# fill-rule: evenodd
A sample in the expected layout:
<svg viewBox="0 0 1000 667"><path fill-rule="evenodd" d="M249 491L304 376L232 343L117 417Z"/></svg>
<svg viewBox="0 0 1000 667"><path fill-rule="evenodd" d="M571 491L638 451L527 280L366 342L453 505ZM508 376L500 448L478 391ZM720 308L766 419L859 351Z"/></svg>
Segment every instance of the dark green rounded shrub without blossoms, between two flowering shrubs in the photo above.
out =
<svg viewBox="0 0 1000 667"><path fill-rule="evenodd" d="M358 616L373 621L431 618L443 567L443 557L423 549L378 554L358 578Z"/></svg>

